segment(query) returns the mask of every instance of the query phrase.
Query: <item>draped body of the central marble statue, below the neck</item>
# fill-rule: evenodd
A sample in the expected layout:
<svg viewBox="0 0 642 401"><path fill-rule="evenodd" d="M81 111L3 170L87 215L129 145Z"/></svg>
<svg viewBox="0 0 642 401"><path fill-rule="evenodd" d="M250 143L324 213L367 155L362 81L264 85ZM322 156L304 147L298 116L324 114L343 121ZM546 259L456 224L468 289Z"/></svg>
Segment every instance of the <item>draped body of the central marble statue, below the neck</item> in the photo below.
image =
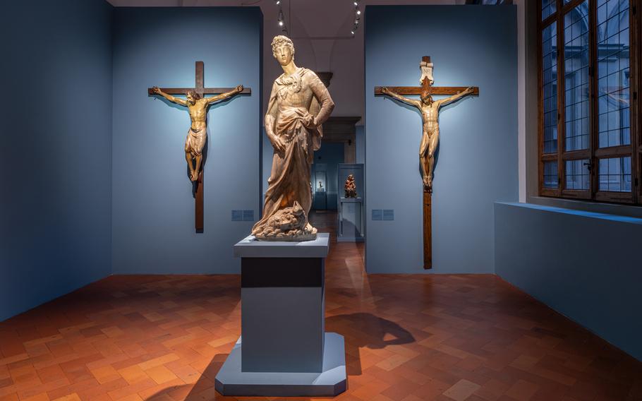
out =
<svg viewBox="0 0 642 401"><path fill-rule="evenodd" d="M302 92L312 90L312 102L302 102ZM274 135L285 143L285 151L274 150L272 174L267 180L263 218L252 232L256 234L277 211L298 202L307 217L312 206L310 164L321 147L321 124L327 120L334 103L319 77L307 68L297 68L290 76L282 74L272 85L267 113L274 115ZM275 114L274 114L275 113ZM315 128L303 124L307 116L316 116ZM266 119L267 121L267 119Z"/></svg>

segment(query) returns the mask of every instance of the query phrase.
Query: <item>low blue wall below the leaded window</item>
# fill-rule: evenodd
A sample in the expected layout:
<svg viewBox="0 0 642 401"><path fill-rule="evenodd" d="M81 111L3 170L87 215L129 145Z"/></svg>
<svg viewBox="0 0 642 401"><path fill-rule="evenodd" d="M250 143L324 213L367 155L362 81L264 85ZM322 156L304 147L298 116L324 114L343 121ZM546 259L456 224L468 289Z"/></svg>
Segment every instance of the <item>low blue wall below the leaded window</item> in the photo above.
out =
<svg viewBox="0 0 642 401"><path fill-rule="evenodd" d="M496 273L642 360L642 219L495 204Z"/></svg>

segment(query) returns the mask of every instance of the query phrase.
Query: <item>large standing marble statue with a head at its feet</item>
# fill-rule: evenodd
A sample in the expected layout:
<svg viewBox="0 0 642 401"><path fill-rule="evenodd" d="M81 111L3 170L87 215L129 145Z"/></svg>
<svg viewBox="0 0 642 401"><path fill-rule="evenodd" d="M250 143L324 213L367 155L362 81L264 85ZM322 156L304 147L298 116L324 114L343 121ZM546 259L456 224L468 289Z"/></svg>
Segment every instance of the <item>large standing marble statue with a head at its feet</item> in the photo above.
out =
<svg viewBox="0 0 642 401"><path fill-rule="evenodd" d="M321 124L334 102L317 74L294 64L294 45L288 37L274 37L272 54L283 68L272 85L265 114L265 133L274 156L263 217L252 234L265 241L309 241L317 237L317 229L308 222L310 164L321 146Z"/></svg>

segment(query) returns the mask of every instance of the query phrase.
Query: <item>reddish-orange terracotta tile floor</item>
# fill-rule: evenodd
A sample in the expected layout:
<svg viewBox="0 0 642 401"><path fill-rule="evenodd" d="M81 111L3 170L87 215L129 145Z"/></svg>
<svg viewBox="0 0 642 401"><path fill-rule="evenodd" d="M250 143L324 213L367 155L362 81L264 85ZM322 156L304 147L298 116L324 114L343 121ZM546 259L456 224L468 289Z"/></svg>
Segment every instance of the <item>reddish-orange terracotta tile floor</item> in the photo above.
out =
<svg viewBox="0 0 642 401"><path fill-rule="evenodd" d="M4 321L0 400L233 400L214 376L239 286L112 276ZM363 244L334 242L326 308L346 337L338 400L642 400L642 363L493 275L367 276Z"/></svg>

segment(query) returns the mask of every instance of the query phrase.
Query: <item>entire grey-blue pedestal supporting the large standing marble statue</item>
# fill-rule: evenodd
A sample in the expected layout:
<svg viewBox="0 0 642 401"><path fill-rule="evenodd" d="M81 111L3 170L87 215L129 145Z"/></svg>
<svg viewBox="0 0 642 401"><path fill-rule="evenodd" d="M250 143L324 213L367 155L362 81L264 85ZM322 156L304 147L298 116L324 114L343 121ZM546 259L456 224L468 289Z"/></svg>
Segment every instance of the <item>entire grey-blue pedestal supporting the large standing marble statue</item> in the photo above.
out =
<svg viewBox="0 0 642 401"><path fill-rule="evenodd" d="M241 338L216 377L223 395L334 396L346 390L344 337L325 333L325 257L315 241L256 241L241 257Z"/></svg>

